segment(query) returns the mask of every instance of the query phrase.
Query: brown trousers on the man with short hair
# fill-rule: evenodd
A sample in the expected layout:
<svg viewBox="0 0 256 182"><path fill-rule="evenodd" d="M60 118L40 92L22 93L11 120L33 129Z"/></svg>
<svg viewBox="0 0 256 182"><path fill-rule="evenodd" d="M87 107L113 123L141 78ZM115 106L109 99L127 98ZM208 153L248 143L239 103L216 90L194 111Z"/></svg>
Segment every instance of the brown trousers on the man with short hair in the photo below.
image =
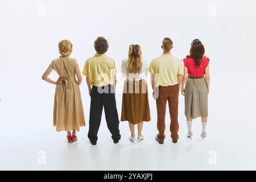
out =
<svg viewBox="0 0 256 182"><path fill-rule="evenodd" d="M166 135L164 131L166 130L166 102L168 101L169 113L171 117L171 138L172 140L177 140L179 135L179 123L178 123L178 104L179 104L179 86L159 86L159 96L156 99L156 109L158 111L158 140L163 142Z"/></svg>

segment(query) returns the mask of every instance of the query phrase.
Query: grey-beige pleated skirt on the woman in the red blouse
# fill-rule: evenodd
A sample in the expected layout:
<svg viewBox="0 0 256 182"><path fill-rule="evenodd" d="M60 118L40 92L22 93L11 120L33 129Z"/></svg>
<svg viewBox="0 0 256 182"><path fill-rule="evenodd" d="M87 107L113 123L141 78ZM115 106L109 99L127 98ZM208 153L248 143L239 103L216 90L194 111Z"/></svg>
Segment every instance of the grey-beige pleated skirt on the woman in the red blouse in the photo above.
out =
<svg viewBox="0 0 256 182"><path fill-rule="evenodd" d="M208 116L208 90L204 77L188 76L187 78L185 116L193 119Z"/></svg>

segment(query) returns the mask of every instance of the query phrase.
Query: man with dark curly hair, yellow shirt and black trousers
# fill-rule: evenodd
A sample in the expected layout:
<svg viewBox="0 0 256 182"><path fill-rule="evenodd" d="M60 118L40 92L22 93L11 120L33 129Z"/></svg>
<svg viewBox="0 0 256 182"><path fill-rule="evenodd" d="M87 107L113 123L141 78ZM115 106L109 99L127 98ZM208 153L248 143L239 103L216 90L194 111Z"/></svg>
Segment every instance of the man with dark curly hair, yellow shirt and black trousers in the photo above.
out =
<svg viewBox="0 0 256 182"><path fill-rule="evenodd" d="M84 71L82 72L86 76L91 98L88 138L93 145L97 144L103 107L108 129L112 134L114 143L118 143L121 138L115 102L115 85L117 84L115 73L117 73L117 68L115 67L115 61L105 55L108 48L108 40L104 37L98 37L94 42L96 54L85 61Z"/></svg>

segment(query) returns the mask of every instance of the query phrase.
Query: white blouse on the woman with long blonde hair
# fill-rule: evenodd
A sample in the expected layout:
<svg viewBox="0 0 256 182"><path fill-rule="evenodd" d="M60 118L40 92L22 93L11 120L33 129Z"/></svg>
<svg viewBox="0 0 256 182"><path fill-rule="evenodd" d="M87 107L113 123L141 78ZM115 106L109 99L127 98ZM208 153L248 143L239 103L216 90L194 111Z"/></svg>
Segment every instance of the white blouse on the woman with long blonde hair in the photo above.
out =
<svg viewBox="0 0 256 182"><path fill-rule="evenodd" d="M139 81L146 79L148 75L148 63L146 60L142 60L142 68L141 72L139 73L130 73L129 76L126 74L127 68L127 59L122 60L122 77L126 78L127 80L131 81Z"/></svg>

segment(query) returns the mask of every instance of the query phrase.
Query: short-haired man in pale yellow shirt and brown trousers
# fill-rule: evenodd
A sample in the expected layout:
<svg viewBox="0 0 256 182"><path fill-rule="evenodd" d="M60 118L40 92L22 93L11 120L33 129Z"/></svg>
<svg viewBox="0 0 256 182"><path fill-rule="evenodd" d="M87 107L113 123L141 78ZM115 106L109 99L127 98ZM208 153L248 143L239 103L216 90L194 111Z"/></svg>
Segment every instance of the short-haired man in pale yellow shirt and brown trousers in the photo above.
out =
<svg viewBox="0 0 256 182"><path fill-rule="evenodd" d="M162 43L163 54L151 61L149 72L151 73L151 85L153 97L156 99L156 109L158 111L158 131L156 140L160 144L164 142L164 131L166 128L166 103L168 101L171 116L171 138L176 143L179 139L179 123L177 120L179 104L179 88L183 74L181 60L171 55L172 40L164 38Z"/></svg>

